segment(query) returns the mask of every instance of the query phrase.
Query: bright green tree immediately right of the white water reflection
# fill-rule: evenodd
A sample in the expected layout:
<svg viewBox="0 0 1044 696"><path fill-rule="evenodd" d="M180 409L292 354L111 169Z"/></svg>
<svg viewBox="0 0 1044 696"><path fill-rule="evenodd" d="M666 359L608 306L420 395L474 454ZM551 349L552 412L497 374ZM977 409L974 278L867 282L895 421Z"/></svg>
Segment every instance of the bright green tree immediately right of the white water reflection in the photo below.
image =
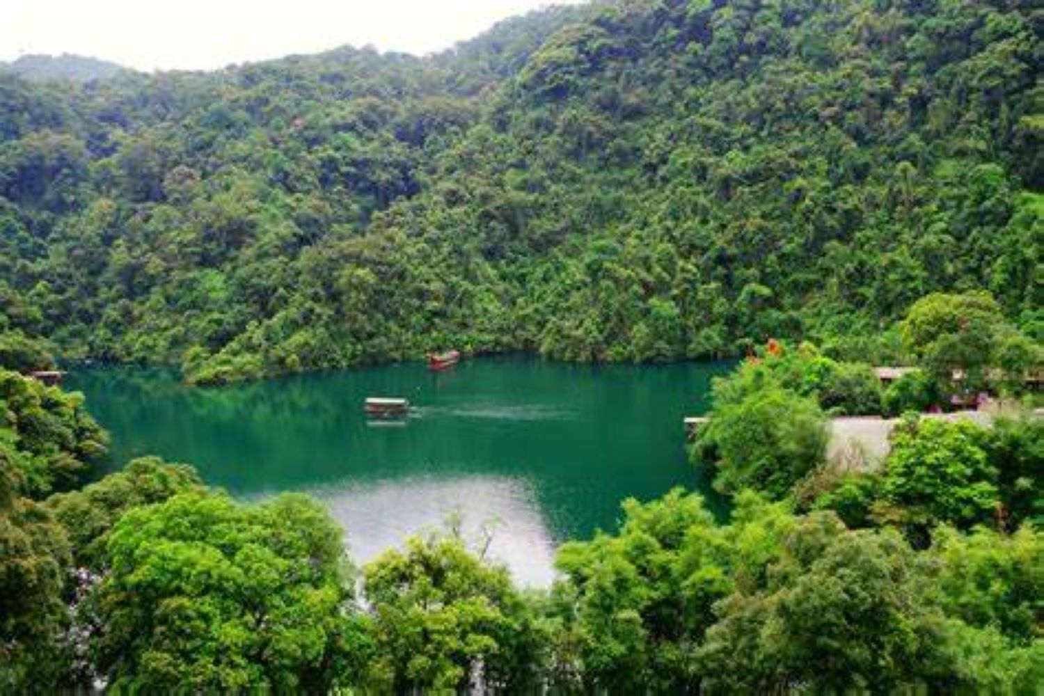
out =
<svg viewBox="0 0 1044 696"><path fill-rule="evenodd" d="M725 538L703 501L681 489L647 505L625 501L618 536L559 552L566 581L555 604L567 627L559 650L577 663L563 668L615 693L668 690L687 682L692 642L731 587ZM683 559L690 547L698 553Z"/></svg>

